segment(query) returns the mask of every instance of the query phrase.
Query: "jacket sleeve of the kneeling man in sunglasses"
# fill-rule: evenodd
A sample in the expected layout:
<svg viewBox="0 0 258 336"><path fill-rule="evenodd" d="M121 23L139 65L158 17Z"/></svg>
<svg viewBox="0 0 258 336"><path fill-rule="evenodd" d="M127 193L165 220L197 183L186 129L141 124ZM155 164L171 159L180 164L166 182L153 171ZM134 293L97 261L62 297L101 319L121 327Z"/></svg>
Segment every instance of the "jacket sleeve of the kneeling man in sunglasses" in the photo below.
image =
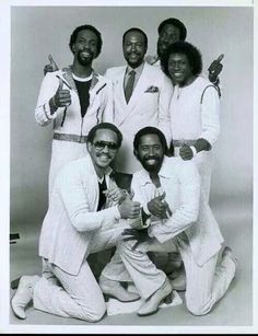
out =
<svg viewBox="0 0 258 336"><path fill-rule="evenodd" d="M80 171L72 167L74 166L66 166L60 172L57 183L63 207L75 230L89 232L99 229L105 222L114 221L115 223L120 219L118 206L101 211L90 209L89 197L94 197L92 188L84 185L85 182L80 178ZM97 201L95 199L95 204Z"/></svg>

